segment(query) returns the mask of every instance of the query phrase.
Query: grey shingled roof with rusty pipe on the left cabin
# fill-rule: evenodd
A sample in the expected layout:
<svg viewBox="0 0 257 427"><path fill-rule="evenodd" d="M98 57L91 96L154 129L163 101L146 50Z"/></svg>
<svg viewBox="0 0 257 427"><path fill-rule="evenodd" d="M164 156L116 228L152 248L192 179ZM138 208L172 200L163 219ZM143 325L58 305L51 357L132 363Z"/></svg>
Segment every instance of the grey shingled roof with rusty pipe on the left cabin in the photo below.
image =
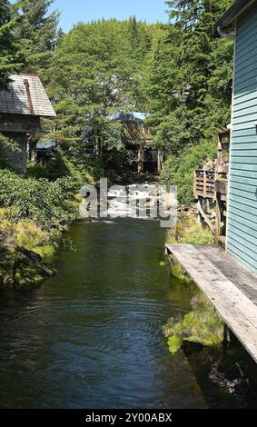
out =
<svg viewBox="0 0 257 427"><path fill-rule="evenodd" d="M7 89L0 91L1 113L56 116L38 75L25 73L10 75Z"/></svg>

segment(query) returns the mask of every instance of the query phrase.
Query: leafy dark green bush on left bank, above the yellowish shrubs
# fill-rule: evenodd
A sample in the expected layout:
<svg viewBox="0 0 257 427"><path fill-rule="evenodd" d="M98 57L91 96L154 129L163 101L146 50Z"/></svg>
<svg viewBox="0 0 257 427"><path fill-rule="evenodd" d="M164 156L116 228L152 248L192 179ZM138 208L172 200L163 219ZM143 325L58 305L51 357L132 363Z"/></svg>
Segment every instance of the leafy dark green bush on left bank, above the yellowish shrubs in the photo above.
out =
<svg viewBox="0 0 257 427"><path fill-rule="evenodd" d="M72 177L35 180L8 170L0 172L0 206L17 208L16 219L32 219L44 229L62 229L77 217L74 194L79 185Z"/></svg>

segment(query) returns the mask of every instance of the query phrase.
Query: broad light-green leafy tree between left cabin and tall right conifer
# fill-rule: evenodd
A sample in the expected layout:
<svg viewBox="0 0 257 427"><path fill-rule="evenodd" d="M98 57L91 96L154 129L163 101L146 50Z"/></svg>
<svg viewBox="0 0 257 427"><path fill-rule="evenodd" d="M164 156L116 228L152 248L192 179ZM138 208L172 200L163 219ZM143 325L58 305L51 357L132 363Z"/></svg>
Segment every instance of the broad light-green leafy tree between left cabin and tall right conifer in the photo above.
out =
<svg viewBox="0 0 257 427"><path fill-rule="evenodd" d="M58 114L52 139L94 146L101 164L120 156L121 124L110 116L144 107L143 72L155 28L133 17L79 23L62 36L44 75Z"/></svg>

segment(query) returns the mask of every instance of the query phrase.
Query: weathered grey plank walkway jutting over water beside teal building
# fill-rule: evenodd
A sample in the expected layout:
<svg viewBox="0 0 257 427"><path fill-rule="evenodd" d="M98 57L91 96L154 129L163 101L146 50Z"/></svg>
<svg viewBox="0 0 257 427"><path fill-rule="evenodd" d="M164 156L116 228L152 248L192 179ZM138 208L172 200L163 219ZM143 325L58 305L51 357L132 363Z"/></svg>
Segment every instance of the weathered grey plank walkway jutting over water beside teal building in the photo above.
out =
<svg viewBox="0 0 257 427"><path fill-rule="evenodd" d="M215 245L166 244L257 362L257 276Z"/></svg>

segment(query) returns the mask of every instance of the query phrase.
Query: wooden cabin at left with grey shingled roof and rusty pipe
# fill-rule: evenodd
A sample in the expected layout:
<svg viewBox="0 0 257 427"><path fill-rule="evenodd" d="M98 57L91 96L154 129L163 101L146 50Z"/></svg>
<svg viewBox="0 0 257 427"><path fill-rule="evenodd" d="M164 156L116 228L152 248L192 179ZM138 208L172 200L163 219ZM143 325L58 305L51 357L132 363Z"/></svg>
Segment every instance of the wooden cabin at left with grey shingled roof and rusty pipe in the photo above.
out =
<svg viewBox="0 0 257 427"><path fill-rule="evenodd" d="M41 117L55 117L44 86L36 74L12 74L7 88L0 91L0 133L20 146L6 152L10 164L25 173L29 139L41 132Z"/></svg>

